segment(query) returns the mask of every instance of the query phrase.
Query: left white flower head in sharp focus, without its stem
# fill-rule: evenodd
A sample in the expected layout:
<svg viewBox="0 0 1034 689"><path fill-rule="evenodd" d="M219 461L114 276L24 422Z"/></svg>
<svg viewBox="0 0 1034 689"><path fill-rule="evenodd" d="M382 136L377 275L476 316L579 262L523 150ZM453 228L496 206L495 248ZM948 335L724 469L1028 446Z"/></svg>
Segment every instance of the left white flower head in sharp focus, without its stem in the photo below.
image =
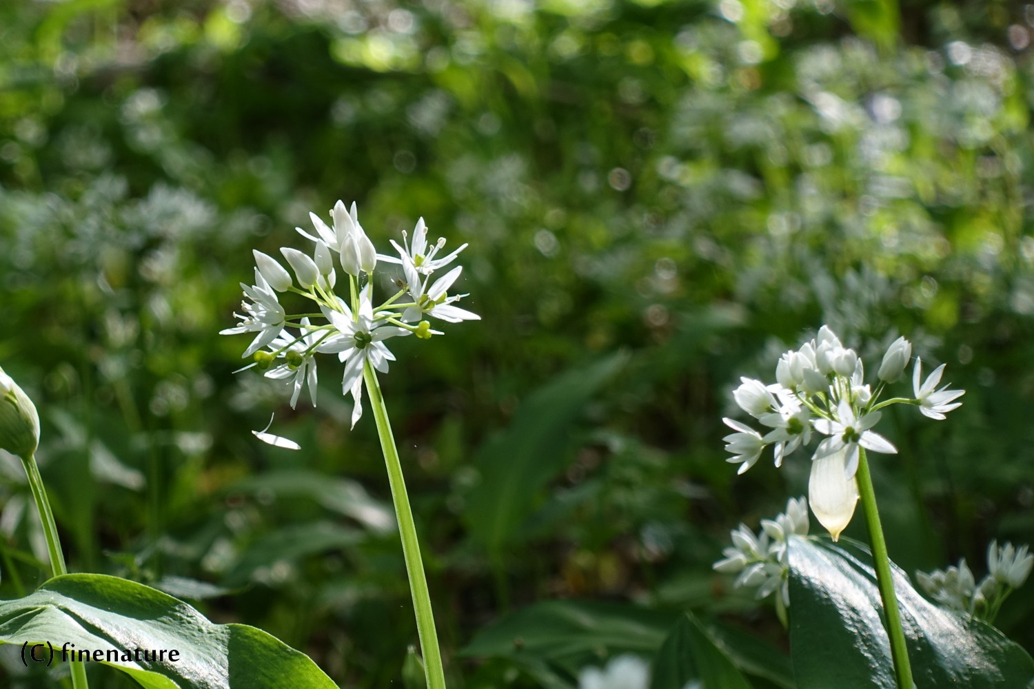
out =
<svg viewBox="0 0 1034 689"><path fill-rule="evenodd" d="M364 368L369 364L374 370L387 373L388 362L395 361L385 345L386 340L409 334L423 339L442 335L431 330L425 316L454 323L481 317L455 306L466 294L448 293L459 278L461 267L431 282L431 275L451 263L466 248L465 244L437 257L446 241L439 239L428 244L427 226L421 218L413 231L412 242L406 232L402 232L403 246L392 241L397 256L377 254L359 224L355 203L348 210L338 200L330 214L332 225L329 226L314 213L309 214L316 236L297 228L315 244L311 256L297 249L280 249L296 280L292 280L291 274L272 257L261 251L253 252L255 283L241 283L245 296L241 304L243 313L234 314L240 323L221 334L256 334L244 351L244 357L253 355L255 361L244 368L257 366L268 378L285 381L293 388L292 407L298 403L306 384L315 406L315 354L337 354L344 363L342 394L351 393L355 401L352 412L355 427L363 413ZM337 283L335 256L347 275L347 300L333 291ZM396 294L374 307L372 278L378 260L401 265L403 280L397 281L400 289ZM320 313L287 314L280 305L278 292L293 292L309 299L316 304ZM310 320L321 317L326 322Z"/></svg>

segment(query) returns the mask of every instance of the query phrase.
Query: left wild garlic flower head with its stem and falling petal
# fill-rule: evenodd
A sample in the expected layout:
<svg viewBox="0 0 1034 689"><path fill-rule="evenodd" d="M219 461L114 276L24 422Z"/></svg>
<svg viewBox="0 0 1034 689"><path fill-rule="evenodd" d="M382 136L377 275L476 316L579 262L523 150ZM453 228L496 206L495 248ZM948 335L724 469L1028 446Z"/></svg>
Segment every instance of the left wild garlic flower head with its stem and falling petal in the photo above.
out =
<svg viewBox="0 0 1034 689"><path fill-rule="evenodd" d="M478 314L456 306L466 294L449 293L462 273L461 267L457 265L432 281L434 273L452 263L467 245L463 244L452 253L439 257L446 241L439 239L433 244L429 243L427 226L421 218L413 230L412 239L403 231L401 246L397 242L391 242L397 255L378 254L363 226L359 224L355 203L346 209L338 200L330 214L331 225L314 213L309 214L316 230L315 236L301 227L297 228L303 237L314 243L311 256L297 249L280 249L295 273L295 280L274 258L261 251L253 252L255 282L253 285L241 283L245 296L241 304L243 313L235 314L240 323L221 333L255 334L244 351L244 357L253 356L254 362L241 370L257 367L265 372L266 377L284 381L292 388L292 407L298 403L304 387L308 387L315 406L316 354L336 354L344 364L341 393L352 395L355 403L352 412L353 428L363 414L362 396L363 387L366 387L376 419L402 538L427 686L429 689L444 689L445 671L420 543L398 449L376 374L387 373L388 363L395 361L386 344L391 338L416 335L426 340L434 335L443 335L442 331L431 328L427 317L450 323L480 320ZM334 291L337 285L335 257L346 276L346 299ZM401 275L395 277L397 291L379 306L373 306L374 275L378 263L398 265ZM286 313L278 296L278 293L284 292L310 300L318 307L317 312ZM266 428L268 430L269 427ZM266 431L255 432L256 437L279 447L298 447L292 441Z"/></svg>

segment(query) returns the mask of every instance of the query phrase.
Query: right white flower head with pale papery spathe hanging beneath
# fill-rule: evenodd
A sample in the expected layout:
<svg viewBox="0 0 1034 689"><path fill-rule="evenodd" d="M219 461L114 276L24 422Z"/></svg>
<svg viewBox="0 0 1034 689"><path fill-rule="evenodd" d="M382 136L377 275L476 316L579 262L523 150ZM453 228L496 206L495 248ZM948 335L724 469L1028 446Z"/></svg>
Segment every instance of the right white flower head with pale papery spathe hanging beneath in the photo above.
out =
<svg viewBox="0 0 1034 689"><path fill-rule="evenodd" d="M777 382L741 378L733 397L739 407L766 428L762 435L746 424L723 419L732 428L724 438L729 462L739 464L739 473L750 469L769 445L773 446L776 466L798 447L807 445L816 431L825 436L812 456L809 502L819 522L835 540L854 514L858 489L854 475L858 450L896 452L886 438L873 431L880 420L880 409L891 404L911 404L931 418L961 406L955 402L964 390L937 389L944 365L934 369L920 384L922 363L917 358L913 371L912 398L892 398L880 402L888 383L901 378L912 355L912 345L898 338L887 349L877 371L874 390L865 383L864 368L858 354L841 344L827 326L818 338L796 351L788 351L776 367Z"/></svg>

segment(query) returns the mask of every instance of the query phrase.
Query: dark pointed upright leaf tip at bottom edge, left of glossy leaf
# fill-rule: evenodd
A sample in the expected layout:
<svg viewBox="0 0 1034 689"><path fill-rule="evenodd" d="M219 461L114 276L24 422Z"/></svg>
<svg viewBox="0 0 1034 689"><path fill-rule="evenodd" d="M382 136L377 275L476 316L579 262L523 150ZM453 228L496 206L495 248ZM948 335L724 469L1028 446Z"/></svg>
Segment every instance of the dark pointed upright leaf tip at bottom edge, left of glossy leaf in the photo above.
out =
<svg viewBox="0 0 1034 689"><path fill-rule="evenodd" d="M650 689L682 689L693 681L699 681L703 689L751 689L725 651L696 617L687 613L658 653Z"/></svg>

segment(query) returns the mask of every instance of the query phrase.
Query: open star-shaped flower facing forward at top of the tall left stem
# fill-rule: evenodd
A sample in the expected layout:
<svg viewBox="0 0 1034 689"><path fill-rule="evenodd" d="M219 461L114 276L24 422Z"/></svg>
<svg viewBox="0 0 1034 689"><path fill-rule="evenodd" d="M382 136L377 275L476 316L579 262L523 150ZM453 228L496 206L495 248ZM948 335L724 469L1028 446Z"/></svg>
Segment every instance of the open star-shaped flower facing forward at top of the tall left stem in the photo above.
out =
<svg viewBox="0 0 1034 689"><path fill-rule="evenodd" d="M338 305L340 311L333 311L326 306L321 310L337 333L324 340L316 351L337 354L344 362L344 377L341 380L342 394L352 394L355 406L352 410L352 427L363 415L363 367L368 361L370 365L388 373L388 362L394 362L395 355L388 350L384 341L388 338L405 336L409 331L396 325L376 325L373 320L373 307L370 304L370 284L360 292L359 311L353 313L344 304Z"/></svg>

